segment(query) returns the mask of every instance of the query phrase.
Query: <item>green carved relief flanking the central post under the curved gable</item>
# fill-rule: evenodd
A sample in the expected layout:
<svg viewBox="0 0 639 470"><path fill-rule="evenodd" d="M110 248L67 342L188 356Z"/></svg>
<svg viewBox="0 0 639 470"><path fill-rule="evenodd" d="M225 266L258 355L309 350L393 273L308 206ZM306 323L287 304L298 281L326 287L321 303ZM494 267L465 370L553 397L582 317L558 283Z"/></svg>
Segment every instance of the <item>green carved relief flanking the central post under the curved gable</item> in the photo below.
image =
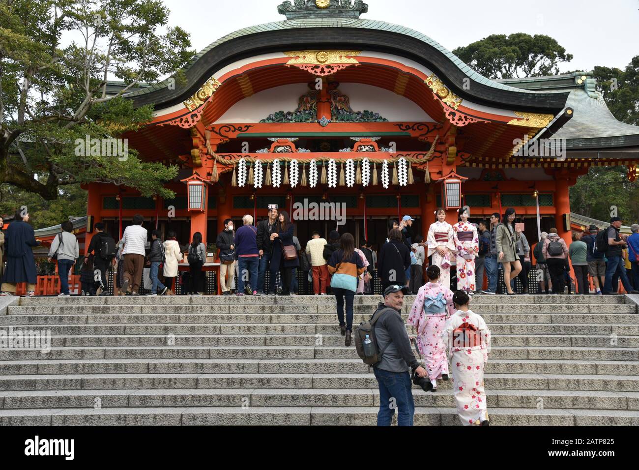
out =
<svg viewBox="0 0 639 470"><path fill-rule="evenodd" d="M330 96L330 114L332 122L387 122L388 120L373 111L353 111L349 98L337 90L339 83L332 83ZM309 87L311 85L309 84ZM312 89L302 95L295 111L277 111L270 114L261 123L301 123L315 122L317 119L319 91Z"/></svg>

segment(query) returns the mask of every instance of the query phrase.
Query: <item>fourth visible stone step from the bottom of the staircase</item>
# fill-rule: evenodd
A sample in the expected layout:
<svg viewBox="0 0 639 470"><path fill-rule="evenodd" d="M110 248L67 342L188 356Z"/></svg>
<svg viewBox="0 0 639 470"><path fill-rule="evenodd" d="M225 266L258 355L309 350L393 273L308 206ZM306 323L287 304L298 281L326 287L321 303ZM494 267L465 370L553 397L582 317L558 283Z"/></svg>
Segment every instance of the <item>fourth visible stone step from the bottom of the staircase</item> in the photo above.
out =
<svg viewBox="0 0 639 470"><path fill-rule="evenodd" d="M96 373L367 373L359 359L77 359L3 361L0 375ZM487 373L638 375L639 361L492 359Z"/></svg>

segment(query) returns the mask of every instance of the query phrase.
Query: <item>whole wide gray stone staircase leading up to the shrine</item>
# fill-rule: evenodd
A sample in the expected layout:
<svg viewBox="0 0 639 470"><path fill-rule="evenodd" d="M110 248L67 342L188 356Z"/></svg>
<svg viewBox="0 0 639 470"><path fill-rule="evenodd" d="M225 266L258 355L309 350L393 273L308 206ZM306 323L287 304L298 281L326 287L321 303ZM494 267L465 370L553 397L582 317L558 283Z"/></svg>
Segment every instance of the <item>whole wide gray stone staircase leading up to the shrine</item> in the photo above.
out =
<svg viewBox="0 0 639 470"><path fill-rule="evenodd" d="M356 325L380 299L355 298ZM376 380L344 347L330 296L6 302L0 331L48 330L51 349L0 349L0 425L376 423ZM492 424L639 425L639 315L626 302L475 296L493 333ZM438 384L413 390L416 425L459 425L450 382Z"/></svg>

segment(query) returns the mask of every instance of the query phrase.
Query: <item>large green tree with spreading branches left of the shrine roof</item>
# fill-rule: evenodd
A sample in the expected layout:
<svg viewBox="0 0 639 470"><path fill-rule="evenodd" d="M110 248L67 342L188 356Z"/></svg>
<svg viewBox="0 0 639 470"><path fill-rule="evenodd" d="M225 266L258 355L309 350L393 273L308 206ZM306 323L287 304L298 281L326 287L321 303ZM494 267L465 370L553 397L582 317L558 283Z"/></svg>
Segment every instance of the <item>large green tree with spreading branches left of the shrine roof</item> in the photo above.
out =
<svg viewBox="0 0 639 470"><path fill-rule="evenodd" d="M78 147L86 136L118 137L152 119L151 107L134 109L121 95L194 55L189 35L167 27L168 18L161 0L0 0L0 183L45 200L86 182L172 197L162 184L177 167L143 162L134 148L109 155ZM63 35L74 38L66 47ZM125 87L107 96L113 77Z"/></svg>

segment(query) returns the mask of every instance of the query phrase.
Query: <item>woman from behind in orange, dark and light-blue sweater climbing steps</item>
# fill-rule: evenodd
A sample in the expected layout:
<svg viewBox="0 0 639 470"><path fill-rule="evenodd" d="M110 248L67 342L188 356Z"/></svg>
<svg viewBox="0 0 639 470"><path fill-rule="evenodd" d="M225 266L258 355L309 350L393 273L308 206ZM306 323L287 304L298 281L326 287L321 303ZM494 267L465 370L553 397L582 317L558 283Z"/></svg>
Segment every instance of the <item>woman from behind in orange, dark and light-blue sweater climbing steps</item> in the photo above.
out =
<svg viewBox="0 0 639 470"><path fill-rule="evenodd" d="M355 239L350 233L344 233L340 237L339 249L333 252L328 261L328 272L332 274L330 288L337 301L339 329L342 336L346 336L344 345L350 346L357 277L364 272L364 262L355 251ZM344 299L346 299L346 322L344 322Z"/></svg>

